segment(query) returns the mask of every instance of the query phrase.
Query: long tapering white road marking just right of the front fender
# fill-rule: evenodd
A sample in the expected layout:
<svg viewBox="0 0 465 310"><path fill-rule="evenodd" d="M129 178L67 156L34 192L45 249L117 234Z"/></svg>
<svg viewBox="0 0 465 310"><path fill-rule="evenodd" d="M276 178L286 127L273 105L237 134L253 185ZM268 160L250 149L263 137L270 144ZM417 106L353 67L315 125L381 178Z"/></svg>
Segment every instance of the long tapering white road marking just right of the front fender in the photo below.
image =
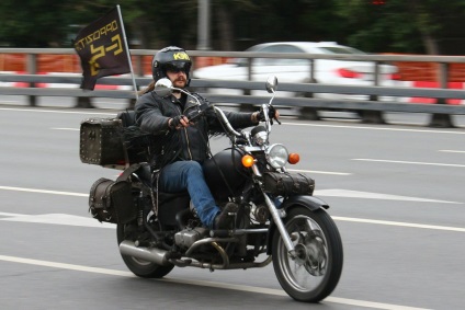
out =
<svg viewBox="0 0 465 310"><path fill-rule="evenodd" d="M327 197L345 197L345 198L364 198L364 199L379 199L379 200L404 200L404 202L418 202L418 203L439 203L439 204L456 204L463 205L464 203L426 199L418 197L407 197L398 195L378 194L370 192L359 192L349 190L316 190L315 196L327 196Z"/></svg>

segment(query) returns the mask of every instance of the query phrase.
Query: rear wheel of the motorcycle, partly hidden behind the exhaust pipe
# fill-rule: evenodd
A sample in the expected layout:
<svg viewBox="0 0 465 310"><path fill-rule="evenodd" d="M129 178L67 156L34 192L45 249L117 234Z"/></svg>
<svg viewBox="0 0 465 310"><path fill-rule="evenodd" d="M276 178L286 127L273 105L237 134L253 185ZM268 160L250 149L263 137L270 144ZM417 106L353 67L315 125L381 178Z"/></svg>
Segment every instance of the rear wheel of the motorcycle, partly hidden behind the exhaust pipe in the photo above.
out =
<svg viewBox="0 0 465 310"><path fill-rule="evenodd" d="M117 236L117 244L124 241L124 236L126 236L125 230L131 229L133 226L131 225L117 225L116 227L116 236ZM144 260L139 260L129 255L121 255L123 257L124 263L129 268L129 271L136 276L143 278L161 278L168 275L174 267L172 266L160 266L152 262L147 262Z"/></svg>

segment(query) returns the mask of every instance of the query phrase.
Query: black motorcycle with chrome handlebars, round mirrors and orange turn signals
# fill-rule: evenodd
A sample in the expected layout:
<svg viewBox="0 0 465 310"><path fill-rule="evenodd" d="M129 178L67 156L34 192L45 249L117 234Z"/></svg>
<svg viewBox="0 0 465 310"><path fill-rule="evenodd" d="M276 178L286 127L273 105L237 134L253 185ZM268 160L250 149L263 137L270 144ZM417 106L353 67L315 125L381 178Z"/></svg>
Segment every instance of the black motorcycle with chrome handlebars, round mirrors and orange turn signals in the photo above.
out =
<svg viewBox="0 0 465 310"><path fill-rule="evenodd" d="M261 107L264 126L247 131L236 130L219 107L201 104L168 79L157 82L160 95L177 90L196 100L188 115L191 122L213 110L224 125L230 147L212 156L203 169L217 205L234 210L235 226L205 228L186 192L157 191L150 165L138 163L126 173L137 215L116 221L120 252L131 272L161 278L174 267L248 269L273 263L280 285L295 300L318 302L332 292L343 265L341 237L326 211L328 204L313 196L314 180L286 170L298 154L270 142L273 119L268 112L274 108L276 87L277 79L270 77L265 88L272 96Z"/></svg>

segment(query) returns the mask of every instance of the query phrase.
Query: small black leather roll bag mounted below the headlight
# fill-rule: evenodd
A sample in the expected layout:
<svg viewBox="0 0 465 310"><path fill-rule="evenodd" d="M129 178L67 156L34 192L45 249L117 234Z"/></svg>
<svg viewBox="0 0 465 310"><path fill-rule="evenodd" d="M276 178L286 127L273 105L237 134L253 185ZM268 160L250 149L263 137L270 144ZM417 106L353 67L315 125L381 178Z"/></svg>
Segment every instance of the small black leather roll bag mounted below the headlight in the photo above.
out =
<svg viewBox="0 0 465 310"><path fill-rule="evenodd" d="M315 181L302 173L265 172L263 191L273 196L311 195Z"/></svg>

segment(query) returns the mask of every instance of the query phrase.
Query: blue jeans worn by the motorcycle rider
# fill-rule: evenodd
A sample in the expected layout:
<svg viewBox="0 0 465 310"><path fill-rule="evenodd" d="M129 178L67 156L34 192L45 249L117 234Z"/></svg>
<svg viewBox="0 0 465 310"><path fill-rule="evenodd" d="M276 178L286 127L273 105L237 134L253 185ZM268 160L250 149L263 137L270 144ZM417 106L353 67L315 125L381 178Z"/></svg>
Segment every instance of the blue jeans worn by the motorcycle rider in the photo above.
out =
<svg viewBox="0 0 465 310"><path fill-rule="evenodd" d="M203 225L213 228L220 211L206 185L202 165L196 161L175 161L166 165L158 179L159 190L177 193L188 190L192 204Z"/></svg>

